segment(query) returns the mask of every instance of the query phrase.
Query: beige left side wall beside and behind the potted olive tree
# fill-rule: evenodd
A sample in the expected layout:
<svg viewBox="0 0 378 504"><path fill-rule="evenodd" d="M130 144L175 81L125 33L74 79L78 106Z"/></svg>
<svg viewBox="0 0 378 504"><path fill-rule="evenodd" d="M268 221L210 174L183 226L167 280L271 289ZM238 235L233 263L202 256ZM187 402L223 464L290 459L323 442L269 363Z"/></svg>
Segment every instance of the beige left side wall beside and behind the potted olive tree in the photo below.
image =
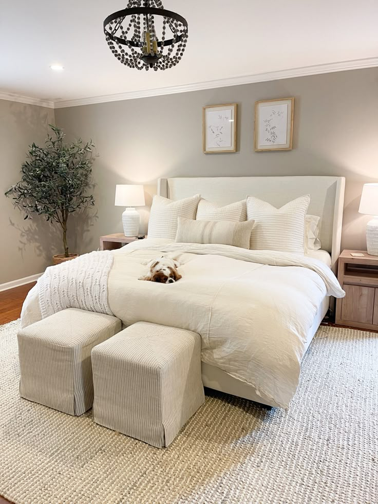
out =
<svg viewBox="0 0 378 504"><path fill-rule="evenodd" d="M0 284L41 273L58 246L48 223L24 220L12 199L4 196L21 178L28 145L44 142L47 125L53 122L52 109L0 100Z"/></svg>

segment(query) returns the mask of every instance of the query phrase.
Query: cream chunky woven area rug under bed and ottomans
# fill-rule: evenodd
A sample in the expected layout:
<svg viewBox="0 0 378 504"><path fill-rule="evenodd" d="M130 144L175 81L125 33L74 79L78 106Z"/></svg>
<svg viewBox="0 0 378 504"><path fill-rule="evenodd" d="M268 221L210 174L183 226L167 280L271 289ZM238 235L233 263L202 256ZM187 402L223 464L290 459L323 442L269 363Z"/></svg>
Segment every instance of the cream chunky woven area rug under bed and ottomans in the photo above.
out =
<svg viewBox="0 0 378 504"><path fill-rule="evenodd" d="M378 334L322 328L289 412L207 390L168 449L18 397L0 327L0 495L17 503L378 502Z"/></svg>

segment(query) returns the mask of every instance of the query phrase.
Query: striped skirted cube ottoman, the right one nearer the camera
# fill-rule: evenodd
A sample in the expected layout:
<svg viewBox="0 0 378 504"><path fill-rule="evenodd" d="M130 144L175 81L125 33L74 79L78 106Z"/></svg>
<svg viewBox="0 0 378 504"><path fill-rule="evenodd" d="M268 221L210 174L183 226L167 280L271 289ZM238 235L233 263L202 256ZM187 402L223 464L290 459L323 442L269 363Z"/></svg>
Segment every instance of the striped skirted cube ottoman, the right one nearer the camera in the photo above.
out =
<svg viewBox="0 0 378 504"><path fill-rule="evenodd" d="M172 443L204 403L201 337L137 322L92 349L93 420L152 446Z"/></svg>

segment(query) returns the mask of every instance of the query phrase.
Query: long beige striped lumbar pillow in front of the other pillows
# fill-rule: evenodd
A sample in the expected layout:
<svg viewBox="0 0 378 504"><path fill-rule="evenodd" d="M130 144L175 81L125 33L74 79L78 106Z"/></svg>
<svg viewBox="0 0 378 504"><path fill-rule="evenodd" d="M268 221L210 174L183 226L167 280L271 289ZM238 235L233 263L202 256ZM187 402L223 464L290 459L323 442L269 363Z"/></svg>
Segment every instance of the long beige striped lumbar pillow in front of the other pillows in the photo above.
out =
<svg viewBox="0 0 378 504"><path fill-rule="evenodd" d="M223 244L250 248L253 220L191 220L178 218L176 241L179 243Z"/></svg>

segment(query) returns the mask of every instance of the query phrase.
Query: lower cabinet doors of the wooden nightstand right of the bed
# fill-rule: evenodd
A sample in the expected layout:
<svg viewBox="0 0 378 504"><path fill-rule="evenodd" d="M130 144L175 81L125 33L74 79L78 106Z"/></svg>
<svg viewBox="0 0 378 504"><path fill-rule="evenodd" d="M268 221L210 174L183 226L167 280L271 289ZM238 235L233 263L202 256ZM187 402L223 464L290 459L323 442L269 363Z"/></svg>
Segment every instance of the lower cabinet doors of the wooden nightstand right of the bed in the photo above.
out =
<svg viewBox="0 0 378 504"><path fill-rule="evenodd" d="M363 324L373 323L374 312L374 287L360 287L358 285L345 285L346 296L342 300L341 318L351 322ZM377 306L378 308L378 306ZM375 318L377 318L378 314Z"/></svg>

